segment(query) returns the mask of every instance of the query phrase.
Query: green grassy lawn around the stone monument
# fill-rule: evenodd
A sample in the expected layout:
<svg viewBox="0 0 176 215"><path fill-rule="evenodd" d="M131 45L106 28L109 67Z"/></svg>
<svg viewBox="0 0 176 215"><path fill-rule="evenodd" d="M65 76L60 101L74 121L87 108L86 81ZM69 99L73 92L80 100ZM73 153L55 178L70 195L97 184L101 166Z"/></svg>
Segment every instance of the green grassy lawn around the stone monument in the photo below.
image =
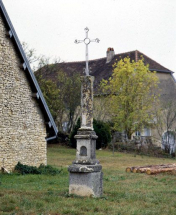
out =
<svg viewBox="0 0 176 215"><path fill-rule="evenodd" d="M56 176L0 174L0 214L41 215L175 215L176 176L126 173L127 166L174 163L174 159L135 156L102 150L102 198L68 195L67 167L75 150L48 147L48 164L62 169Z"/></svg>

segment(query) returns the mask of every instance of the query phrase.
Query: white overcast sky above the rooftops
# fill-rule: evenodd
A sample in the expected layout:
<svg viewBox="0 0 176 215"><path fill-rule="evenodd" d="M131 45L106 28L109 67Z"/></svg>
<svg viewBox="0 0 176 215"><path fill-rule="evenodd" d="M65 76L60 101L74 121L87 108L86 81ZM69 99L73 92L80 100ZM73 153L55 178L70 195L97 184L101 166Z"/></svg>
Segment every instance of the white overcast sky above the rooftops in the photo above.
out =
<svg viewBox="0 0 176 215"><path fill-rule="evenodd" d="M176 72L176 0L3 0L20 41L50 57L64 61L139 50Z"/></svg>

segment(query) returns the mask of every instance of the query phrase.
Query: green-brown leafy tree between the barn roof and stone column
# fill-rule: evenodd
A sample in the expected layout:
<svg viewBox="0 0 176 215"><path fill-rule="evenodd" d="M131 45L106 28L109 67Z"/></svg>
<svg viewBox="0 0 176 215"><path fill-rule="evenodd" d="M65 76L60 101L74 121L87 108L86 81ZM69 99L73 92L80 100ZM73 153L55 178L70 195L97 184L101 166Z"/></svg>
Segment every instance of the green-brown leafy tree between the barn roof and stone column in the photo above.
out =
<svg viewBox="0 0 176 215"><path fill-rule="evenodd" d="M81 81L77 73L66 74L61 69L54 71L57 79L51 80L42 76L42 71L55 69L45 65L40 73L35 73L46 102L51 110L59 131L70 133L79 116ZM63 127L63 124L66 126Z"/></svg>

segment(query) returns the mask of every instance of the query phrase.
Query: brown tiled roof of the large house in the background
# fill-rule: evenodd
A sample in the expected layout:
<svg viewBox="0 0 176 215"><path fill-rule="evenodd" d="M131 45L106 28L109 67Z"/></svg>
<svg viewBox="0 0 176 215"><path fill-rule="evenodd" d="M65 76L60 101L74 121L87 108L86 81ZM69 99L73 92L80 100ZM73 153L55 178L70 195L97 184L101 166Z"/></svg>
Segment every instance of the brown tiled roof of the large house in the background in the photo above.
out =
<svg viewBox="0 0 176 215"><path fill-rule="evenodd" d="M137 61L143 56L144 63L149 64L149 69L151 71L156 72L162 72L162 73L168 73L172 74L173 72L156 61L152 60L142 52L135 50L130 51L126 53L116 54L114 55L113 59L106 63L106 57L100 58L96 60L90 60L89 61L89 69L90 69L90 75L95 76L95 82L94 82L94 88L95 92L98 89L98 85L102 79L108 79L112 75L112 66L116 61L119 61L120 59L123 59L125 57L129 57L131 60ZM40 71L37 72L37 74L42 75L46 79L52 79L53 81L57 80L57 73L58 70L63 70L67 74L71 75L74 72L80 73L80 75L85 75L84 73L85 68L85 61L78 61L78 62L65 62L65 63L58 63L55 65L52 65L52 69L43 68Z"/></svg>

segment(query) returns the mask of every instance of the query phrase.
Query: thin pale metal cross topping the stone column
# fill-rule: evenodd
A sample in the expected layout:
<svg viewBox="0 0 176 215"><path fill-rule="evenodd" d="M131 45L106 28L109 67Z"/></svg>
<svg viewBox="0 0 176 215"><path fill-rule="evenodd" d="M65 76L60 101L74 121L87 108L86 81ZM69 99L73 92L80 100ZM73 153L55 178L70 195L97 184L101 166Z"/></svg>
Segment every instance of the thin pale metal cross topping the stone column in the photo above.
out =
<svg viewBox="0 0 176 215"><path fill-rule="evenodd" d="M85 73L86 75L88 76L89 75L89 54L88 54L88 45L90 44L90 42L96 42L96 43L99 43L100 40L98 38L94 39L94 40L90 40L88 38L88 32L89 32L89 29L86 27L85 29L85 32L86 32L86 38L84 40L75 40L75 43L78 44L78 43L82 43L84 42L85 45L86 45L86 69L85 69Z"/></svg>

